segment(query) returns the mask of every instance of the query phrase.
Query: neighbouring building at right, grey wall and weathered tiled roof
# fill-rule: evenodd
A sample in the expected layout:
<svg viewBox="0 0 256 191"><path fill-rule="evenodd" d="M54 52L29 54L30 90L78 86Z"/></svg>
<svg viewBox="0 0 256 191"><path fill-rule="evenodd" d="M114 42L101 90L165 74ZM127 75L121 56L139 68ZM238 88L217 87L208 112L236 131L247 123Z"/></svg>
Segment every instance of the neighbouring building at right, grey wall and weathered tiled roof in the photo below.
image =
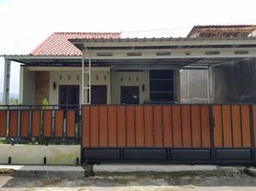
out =
<svg viewBox="0 0 256 191"><path fill-rule="evenodd" d="M251 38L255 36L255 25L209 25L195 26L187 38ZM255 45L250 45L253 53ZM226 47L227 48L227 47ZM256 101L255 55L213 64L205 70L181 71L181 102L229 102L243 103ZM207 85L208 83L208 85Z"/></svg>

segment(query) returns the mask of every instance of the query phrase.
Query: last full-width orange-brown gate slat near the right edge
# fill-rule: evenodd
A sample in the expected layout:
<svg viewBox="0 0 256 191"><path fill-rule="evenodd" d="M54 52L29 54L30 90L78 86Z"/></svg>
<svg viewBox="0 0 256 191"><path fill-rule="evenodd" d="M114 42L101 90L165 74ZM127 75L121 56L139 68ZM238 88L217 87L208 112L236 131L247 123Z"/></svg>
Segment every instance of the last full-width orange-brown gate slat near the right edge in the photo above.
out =
<svg viewBox="0 0 256 191"><path fill-rule="evenodd" d="M249 120L249 106L241 106L241 116L242 116L242 136L243 136L243 146L251 146L251 137L250 137L250 120Z"/></svg>

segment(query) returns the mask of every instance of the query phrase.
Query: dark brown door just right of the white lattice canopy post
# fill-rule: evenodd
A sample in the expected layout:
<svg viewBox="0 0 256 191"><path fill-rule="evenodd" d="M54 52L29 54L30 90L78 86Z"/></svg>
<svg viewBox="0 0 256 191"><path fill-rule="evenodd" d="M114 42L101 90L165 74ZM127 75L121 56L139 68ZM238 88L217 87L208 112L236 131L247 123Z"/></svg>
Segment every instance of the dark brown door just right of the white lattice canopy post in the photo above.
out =
<svg viewBox="0 0 256 191"><path fill-rule="evenodd" d="M91 88L91 104L107 104L107 86L94 85Z"/></svg>

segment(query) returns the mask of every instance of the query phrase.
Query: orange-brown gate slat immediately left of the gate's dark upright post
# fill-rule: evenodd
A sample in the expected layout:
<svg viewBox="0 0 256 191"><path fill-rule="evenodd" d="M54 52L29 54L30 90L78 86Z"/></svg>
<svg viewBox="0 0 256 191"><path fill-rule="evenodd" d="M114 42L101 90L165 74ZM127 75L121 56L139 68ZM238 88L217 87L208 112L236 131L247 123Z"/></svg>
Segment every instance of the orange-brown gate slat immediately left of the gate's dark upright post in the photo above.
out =
<svg viewBox="0 0 256 191"><path fill-rule="evenodd" d="M202 147L210 147L210 116L209 116L209 106L201 106L201 123L202 123Z"/></svg>

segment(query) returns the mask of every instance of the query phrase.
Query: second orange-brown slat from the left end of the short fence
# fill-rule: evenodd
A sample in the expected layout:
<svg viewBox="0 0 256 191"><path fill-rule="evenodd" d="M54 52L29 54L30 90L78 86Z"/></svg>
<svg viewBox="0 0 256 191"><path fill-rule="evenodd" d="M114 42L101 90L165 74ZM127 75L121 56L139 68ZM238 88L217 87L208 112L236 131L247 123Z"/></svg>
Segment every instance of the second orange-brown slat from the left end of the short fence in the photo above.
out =
<svg viewBox="0 0 256 191"><path fill-rule="evenodd" d="M10 118L9 118L9 136L11 138L18 137L17 129L18 129L18 111L17 110L10 110Z"/></svg>

